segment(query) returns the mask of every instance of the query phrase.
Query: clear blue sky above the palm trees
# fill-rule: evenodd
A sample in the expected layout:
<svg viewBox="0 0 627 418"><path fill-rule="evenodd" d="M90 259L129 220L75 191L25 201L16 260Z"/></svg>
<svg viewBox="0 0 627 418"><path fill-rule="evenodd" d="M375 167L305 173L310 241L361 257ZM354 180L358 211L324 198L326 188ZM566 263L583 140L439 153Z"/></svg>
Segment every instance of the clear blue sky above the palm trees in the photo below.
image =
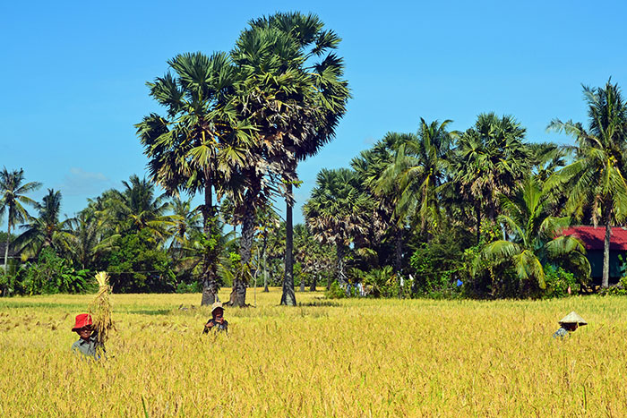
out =
<svg viewBox="0 0 627 418"><path fill-rule="evenodd" d="M300 165L300 205L322 168L347 166L385 132L420 117L464 130L477 114L516 116L529 141L554 117L585 120L580 84L627 86L623 2L3 2L0 166L61 190L72 216L86 199L142 175L133 124L159 107L146 81L184 52L230 49L246 22L317 13L343 38L354 98L337 138ZM279 202L282 207L282 203Z"/></svg>

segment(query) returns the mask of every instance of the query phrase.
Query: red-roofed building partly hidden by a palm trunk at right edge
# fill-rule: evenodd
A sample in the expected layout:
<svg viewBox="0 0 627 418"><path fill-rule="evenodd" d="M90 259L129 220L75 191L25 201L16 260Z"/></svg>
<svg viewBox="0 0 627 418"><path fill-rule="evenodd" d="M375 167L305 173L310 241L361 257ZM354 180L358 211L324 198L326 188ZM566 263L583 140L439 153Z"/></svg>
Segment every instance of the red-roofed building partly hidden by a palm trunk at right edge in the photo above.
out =
<svg viewBox="0 0 627 418"><path fill-rule="evenodd" d="M605 226L571 226L563 235L576 236L586 247L586 258L590 262L592 278L600 284L603 277L603 248L606 242ZM610 235L610 283L618 282L623 276L623 265L627 261L627 229L612 227Z"/></svg>

